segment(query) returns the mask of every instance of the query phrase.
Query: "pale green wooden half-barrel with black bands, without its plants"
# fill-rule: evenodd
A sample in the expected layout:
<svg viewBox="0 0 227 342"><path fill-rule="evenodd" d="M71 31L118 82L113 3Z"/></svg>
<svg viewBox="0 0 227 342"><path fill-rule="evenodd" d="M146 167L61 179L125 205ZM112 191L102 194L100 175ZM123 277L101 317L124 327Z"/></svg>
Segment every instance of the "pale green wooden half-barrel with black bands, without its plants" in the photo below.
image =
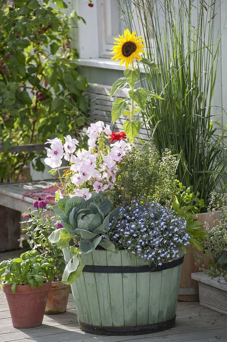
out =
<svg viewBox="0 0 227 342"><path fill-rule="evenodd" d="M66 262L73 255L63 250ZM157 332L175 324L183 253L149 266L117 253L94 250L82 255L85 267L71 284L81 330L105 335Z"/></svg>

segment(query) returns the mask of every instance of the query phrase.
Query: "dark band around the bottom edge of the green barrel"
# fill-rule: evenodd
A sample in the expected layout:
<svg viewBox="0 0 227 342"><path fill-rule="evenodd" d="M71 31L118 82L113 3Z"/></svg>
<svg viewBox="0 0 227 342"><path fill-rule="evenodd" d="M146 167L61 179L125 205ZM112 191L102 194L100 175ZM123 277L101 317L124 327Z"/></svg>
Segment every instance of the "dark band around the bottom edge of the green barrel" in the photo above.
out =
<svg viewBox="0 0 227 342"><path fill-rule="evenodd" d="M175 324L175 318L176 316L165 322L134 327L99 327L79 321L79 327L85 332L99 335L141 335L172 328Z"/></svg>

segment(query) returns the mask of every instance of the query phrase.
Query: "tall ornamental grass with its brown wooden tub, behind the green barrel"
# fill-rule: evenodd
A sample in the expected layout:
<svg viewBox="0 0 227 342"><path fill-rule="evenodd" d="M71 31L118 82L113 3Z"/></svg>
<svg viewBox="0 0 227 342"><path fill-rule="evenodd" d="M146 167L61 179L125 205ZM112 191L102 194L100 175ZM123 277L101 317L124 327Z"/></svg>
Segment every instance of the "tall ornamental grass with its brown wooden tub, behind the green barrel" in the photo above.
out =
<svg viewBox="0 0 227 342"><path fill-rule="evenodd" d="M140 0L118 1L124 25L139 25L147 39L147 58L157 61L160 73L143 66L140 82L165 98L151 98L143 115L143 127L159 153L169 148L178 155L177 177L186 188L204 200L196 211L198 221L209 221L210 193L225 191L227 129L222 104L213 103L217 91L217 63L223 28L216 33L219 4L212 0L154 0L141 6ZM200 28L200 29L198 29ZM200 62L198 62L200 61ZM218 82L219 83L219 82ZM215 111L217 110L217 113ZM221 132L221 133L220 133ZM218 213L216 214L218 218ZM212 227L213 222L209 221ZM202 227L205 230L205 226ZM198 282L191 279L198 272L194 252L187 247L182 269L179 299L198 300ZM202 252L201 252L202 255ZM209 267L209 265L207 265Z"/></svg>

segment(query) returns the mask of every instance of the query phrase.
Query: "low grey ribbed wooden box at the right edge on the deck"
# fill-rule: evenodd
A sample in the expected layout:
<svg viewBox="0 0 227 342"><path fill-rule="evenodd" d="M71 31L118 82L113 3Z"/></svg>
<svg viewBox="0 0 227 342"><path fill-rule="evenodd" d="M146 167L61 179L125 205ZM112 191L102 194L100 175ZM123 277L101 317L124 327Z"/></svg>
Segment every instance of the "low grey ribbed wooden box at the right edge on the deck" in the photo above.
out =
<svg viewBox="0 0 227 342"><path fill-rule="evenodd" d="M191 278L199 282L199 303L227 315L227 282L222 277L209 277L204 272L192 273Z"/></svg>

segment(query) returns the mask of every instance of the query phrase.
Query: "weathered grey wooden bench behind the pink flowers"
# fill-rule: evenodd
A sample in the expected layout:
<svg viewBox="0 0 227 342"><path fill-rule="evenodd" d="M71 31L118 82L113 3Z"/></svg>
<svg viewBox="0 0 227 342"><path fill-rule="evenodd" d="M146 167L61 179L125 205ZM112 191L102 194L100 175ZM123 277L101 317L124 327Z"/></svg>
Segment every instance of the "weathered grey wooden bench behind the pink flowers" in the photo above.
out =
<svg viewBox="0 0 227 342"><path fill-rule="evenodd" d="M122 89L115 93L114 96L108 98L110 90L110 86L89 84L89 88L84 92L84 95L88 96L90 101L88 120L89 122L104 121L110 124L112 130L120 131L123 127L123 119L117 120L113 126L111 123L111 108L117 97L127 98L128 92ZM84 128L82 134L85 134L86 130ZM141 128L140 138L145 141L148 140L146 128ZM44 144L18 145L12 146L9 152L30 152L43 149ZM0 152L4 152L1 146ZM33 202L33 199L29 197L24 197L21 202L23 194L30 190L50 187L53 182L54 180L0 184L0 251L19 247L21 212L27 211L27 208Z"/></svg>

